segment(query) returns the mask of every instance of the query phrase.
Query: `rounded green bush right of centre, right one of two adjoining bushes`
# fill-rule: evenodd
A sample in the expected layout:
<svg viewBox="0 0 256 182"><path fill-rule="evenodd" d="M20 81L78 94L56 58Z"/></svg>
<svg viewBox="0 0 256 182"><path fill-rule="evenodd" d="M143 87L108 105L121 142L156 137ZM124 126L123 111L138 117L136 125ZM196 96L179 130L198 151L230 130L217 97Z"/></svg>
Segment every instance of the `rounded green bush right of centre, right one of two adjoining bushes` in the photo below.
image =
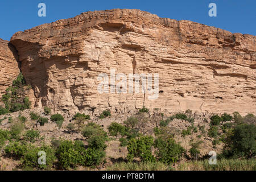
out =
<svg viewBox="0 0 256 182"><path fill-rule="evenodd" d="M157 148L155 152L158 160L163 163L172 164L177 162L185 152L180 144L176 143L174 139L164 141L161 138L155 140L154 146Z"/></svg>

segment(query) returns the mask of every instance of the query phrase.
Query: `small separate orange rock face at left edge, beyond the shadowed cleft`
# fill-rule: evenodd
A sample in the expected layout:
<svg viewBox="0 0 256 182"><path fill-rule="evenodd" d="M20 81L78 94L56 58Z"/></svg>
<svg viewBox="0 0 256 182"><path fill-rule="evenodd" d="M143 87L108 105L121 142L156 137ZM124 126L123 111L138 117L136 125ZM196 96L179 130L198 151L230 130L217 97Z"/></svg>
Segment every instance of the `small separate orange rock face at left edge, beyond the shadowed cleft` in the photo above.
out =
<svg viewBox="0 0 256 182"><path fill-rule="evenodd" d="M15 48L8 41L0 39L0 102L2 94L19 75L17 59Z"/></svg>

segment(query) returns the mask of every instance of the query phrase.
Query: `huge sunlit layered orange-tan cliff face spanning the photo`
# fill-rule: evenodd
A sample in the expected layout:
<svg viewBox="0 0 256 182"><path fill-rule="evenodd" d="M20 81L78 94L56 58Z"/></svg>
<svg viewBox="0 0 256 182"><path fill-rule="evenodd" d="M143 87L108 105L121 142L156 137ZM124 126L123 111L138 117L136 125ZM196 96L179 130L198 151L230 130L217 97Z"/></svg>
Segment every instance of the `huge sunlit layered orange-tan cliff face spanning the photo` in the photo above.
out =
<svg viewBox="0 0 256 182"><path fill-rule="evenodd" d="M106 109L133 113L145 105L162 112L256 114L253 35L115 9L17 32L10 43L18 50L37 107L98 114ZM158 73L158 98L149 100L149 93L99 93L98 76L110 76L110 69L125 75Z"/></svg>

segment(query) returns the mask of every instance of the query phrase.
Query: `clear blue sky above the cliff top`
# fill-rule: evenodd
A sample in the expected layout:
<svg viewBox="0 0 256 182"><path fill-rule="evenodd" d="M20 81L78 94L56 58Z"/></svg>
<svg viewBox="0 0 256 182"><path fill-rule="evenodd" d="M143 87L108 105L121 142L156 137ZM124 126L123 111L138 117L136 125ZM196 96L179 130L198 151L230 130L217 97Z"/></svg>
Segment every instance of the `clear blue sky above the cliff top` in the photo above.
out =
<svg viewBox="0 0 256 182"><path fill-rule="evenodd" d="M38 4L46 3L47 16L38 16ZM208 15L208 5L217 5L217 17ZM0 38L10 40L17 31L43 23L72 18L85 11L140 9L162 18L192 20L231 32L256 35L255 0L1 0Z"/></svg>

